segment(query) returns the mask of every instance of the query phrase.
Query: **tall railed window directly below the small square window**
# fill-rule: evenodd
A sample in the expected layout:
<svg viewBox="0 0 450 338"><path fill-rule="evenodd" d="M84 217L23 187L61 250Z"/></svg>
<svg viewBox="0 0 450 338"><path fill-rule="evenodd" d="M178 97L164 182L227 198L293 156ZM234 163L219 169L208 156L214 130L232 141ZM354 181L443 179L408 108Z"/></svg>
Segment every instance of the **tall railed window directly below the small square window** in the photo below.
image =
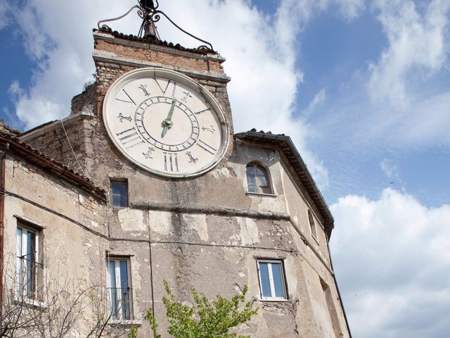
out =
<svg viewBox="0 0 450 338"><path fill-rule="evenodd" d="M112 320L132 319L129 260L114 258L108 264L108 303Z"/></svg>

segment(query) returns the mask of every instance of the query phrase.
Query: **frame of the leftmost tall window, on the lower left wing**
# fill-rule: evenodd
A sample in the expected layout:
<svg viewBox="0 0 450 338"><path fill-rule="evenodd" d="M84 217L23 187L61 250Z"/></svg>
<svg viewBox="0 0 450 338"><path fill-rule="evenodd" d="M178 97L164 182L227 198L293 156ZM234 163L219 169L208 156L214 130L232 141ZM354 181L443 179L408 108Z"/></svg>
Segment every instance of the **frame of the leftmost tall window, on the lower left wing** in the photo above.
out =
<svg viewBox="0 0 450 338"><path fill-rule="evenodd" d="M22 221L18 221L17 226L15 227L15 243L16 243L16 261L15 261L15 296L16 298L23 299L25 301L38 301L39 298L39 286L41 284L41 269L44 268L44 265L41 262L41 228L40 227L33 227L32 225L28 223L24 223ZM20 233L20 248L18 246L19 244L19 236L18 236L18 230L21 231ZM34 253L32 257L32 280L23 280L23 277L27 276L29 273L29 267L27 263L24 264L24 262L28 261L27 258L24 258L25 256L28 256L30 253L28 253L27 248L27 235L25 232L30 232L34 234ZM27 251L27 253L24 253L24 248ZM20 250L20 256L18 251ZM31 283L30 291L28 289L29 285Z"/></svg>

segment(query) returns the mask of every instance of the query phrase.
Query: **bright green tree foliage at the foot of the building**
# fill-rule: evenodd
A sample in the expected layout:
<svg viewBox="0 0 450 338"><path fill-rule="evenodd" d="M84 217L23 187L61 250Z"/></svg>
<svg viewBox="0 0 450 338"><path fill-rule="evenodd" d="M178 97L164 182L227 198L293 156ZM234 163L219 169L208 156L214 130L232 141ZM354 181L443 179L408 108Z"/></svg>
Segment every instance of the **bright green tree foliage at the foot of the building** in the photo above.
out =
<svg viewBox="0 0 450 338"><path fill-rule="evenodd" d="M252 308L252 301L245 302L248 287L245 285L242 294L231 299L217 295L215 300L207 299L204 294L191 289L193 305L183 305L175 299L167 282L164 282L167 295L162 298L166 307L169 327L167 333L174 338L250 338L230 332L233 327L246 323L258 311ZM155 338L158 334L158 324L151 309L148 310L146 320L150 323ZM134 336L136 337L136 336ZM134 338L133 336L129 338Z"/></svg>

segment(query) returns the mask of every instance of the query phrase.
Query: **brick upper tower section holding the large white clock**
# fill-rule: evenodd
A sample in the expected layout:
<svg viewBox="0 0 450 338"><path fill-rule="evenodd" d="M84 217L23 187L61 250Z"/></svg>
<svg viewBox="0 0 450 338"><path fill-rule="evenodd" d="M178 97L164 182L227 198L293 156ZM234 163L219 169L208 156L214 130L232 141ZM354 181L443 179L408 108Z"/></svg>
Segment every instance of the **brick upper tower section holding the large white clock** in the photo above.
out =
<svg viewBox="0 0 450 338"><path fill-rule="evenodd" d="M150 3L142 14L146 35L122 35L103 21L94 31L94 114L114 151L139 168L159 177L199 176L231 151L225 59L209 43L187 49L163 42L155 27L162 12Z"/></svg>

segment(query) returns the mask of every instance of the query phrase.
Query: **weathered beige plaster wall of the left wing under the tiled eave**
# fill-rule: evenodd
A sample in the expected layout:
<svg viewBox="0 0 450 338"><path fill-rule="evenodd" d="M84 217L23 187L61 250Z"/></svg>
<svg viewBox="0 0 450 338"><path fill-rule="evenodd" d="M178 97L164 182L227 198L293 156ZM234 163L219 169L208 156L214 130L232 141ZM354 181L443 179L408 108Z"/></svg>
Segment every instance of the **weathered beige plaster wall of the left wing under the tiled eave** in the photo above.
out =
<svg viewBox="0 0 450 338"><path fill-rule="evenodd" d="M104 289L108 248L105 204L11 155L7 156L5 175L4 287L14 289L16 229L20 224L39 234L37 261L42 265L38 267L37 301L46 303L46 296L71 292L70 296L60 295L69 303L94 285ZM93 318L93 310L86 308L84 315ZM23 313L27 313L26 308ZM77 315L75 328L86 334L82 313Z"/></svg>

